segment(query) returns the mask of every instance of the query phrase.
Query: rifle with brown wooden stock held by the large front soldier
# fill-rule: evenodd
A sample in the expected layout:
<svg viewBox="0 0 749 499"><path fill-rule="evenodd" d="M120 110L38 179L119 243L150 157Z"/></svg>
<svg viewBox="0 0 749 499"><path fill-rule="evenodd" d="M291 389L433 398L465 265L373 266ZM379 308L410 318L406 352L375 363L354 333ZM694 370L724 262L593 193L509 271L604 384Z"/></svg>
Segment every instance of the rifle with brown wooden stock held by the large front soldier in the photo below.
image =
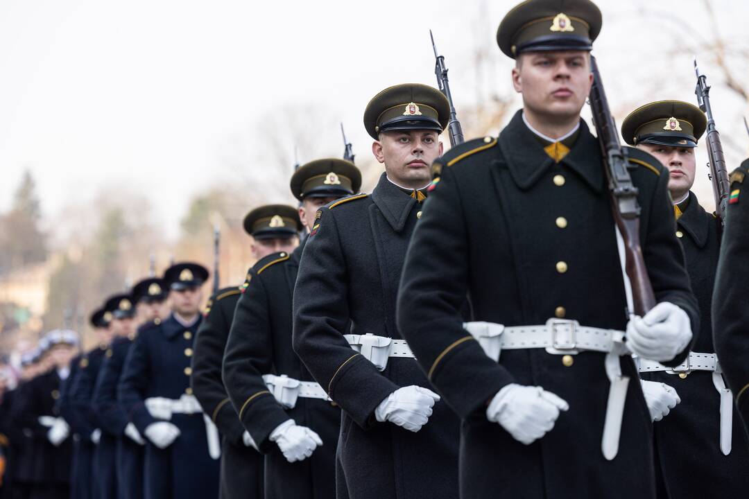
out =
<svg viewBox="0 0 749 499"><path fill-rule="evenodd" d="M655 307L655 293L650 284L643 249L640 246L640 205L637 203L637 187L632 183L628 170L631 163L627 151L619 143L619 132L611 115L601 74L598 73L598 64L592 55L590 64L593 85L589 100L593 126L603 154L613 218L624 239L626 271L632 285L634 313L644 316L648 310Z"/></svg>

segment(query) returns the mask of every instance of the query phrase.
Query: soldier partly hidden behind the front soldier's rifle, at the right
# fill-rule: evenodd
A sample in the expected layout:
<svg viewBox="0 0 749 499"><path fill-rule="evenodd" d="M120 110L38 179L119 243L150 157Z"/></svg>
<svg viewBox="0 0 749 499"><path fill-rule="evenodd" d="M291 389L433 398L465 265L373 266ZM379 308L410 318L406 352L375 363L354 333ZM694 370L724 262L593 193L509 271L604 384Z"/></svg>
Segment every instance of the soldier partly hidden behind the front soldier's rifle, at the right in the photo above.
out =
<svg viewBox="0 0 749 499"><path fill-rule="evenodd" d="M652 154L667 169L676 237L684 248L700 310L700 331L688 362L674 368L640 362L643 379L672 386L681 401L653 427L659 498L737 497L749 489L749 474L743 472L749 443L712 344L710 308L720 222L691 191L697 173L694 151L706 125L700 108L676 100L642 105L622 121L625 141Z"/></svg>

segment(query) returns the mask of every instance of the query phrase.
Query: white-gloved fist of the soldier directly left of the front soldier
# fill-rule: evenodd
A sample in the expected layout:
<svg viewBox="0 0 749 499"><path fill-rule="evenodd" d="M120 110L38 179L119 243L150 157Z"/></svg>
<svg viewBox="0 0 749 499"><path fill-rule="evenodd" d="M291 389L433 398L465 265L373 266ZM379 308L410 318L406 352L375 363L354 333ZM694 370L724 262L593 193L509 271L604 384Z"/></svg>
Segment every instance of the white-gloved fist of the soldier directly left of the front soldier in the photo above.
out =
<svg viewBox="0 0 749 499"><path fill-rule="evenodd" d="M375 417L380 423L389 421L410 432L418 432L431 416L434 402L440 396L428 388L410 385L389 394L375 409Z"/></svg>

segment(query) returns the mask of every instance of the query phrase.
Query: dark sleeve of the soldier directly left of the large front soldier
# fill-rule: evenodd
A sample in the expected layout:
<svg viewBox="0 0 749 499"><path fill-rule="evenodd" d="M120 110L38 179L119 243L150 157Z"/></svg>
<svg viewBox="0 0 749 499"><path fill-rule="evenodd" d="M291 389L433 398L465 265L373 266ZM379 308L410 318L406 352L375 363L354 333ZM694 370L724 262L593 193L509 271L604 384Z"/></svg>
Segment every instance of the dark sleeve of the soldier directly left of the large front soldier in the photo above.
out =
<svg viewBox="0 0 749 499"><path fill-rule="evenodd" d="M366 429L377 423L377 405L401 387L343 337L350 319L348 283L355 281L348 273L356 269L346 266L333 212L324 208L320 214L294 288L294 351L330 398Z"/></svg>

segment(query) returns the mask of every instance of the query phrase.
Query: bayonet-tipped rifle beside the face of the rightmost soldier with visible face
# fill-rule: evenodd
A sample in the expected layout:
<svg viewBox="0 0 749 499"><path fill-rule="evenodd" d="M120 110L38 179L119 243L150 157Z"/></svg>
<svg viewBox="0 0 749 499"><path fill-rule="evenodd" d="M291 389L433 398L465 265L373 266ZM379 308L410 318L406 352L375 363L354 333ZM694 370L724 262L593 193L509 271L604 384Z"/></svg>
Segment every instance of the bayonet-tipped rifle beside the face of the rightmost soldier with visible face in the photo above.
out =
<svg viewBox="0 0 749 499"><path fill-rule="evenodd" d="M723 144L721 144L721 134L715 129L715 119L712 117L712 107L710 106L710 87L707 85L707 77L700 73L697 67L697 58L694 58L694 73L697 74L697 87L694 88L694 94L697 95L697 104L700 109L707 115L707 153L710 159L708 167L710 168L709 178L712 180L712 197L715 199L715 215L721 221L722 228L726 223L726 206L728 205L728 194L730 185L728 184L728 171L726 170L726 159L723 156Z"/></svg>

